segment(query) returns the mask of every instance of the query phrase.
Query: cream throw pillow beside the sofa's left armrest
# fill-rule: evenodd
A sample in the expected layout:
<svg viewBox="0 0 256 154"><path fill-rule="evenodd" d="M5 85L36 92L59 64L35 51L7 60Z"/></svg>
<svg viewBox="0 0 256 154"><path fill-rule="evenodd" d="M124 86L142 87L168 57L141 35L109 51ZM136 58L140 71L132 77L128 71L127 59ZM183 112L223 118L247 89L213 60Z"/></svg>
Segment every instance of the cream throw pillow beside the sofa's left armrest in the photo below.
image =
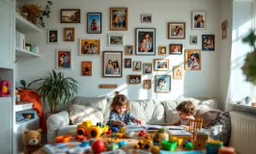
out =
<svg viewBox="0 0 256 154"><path fill-rule="evenodd" d="M83 121L91 120L94 125L103 122L101 111L83 105L72 104L70 106L70 119L73 125L81 124Z"/></svg>

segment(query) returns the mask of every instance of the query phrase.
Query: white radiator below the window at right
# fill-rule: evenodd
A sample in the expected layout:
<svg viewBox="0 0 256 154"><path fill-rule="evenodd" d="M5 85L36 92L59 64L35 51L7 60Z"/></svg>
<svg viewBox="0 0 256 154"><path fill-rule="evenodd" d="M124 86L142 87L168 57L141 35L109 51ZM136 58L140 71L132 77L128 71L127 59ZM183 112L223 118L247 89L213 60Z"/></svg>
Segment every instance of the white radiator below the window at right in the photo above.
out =
<svg viewBox="0 0 256 154"><path fill-rule="evenodd" d="M230 112L230 146L240 154L256 154L256 116Z"/></svg>

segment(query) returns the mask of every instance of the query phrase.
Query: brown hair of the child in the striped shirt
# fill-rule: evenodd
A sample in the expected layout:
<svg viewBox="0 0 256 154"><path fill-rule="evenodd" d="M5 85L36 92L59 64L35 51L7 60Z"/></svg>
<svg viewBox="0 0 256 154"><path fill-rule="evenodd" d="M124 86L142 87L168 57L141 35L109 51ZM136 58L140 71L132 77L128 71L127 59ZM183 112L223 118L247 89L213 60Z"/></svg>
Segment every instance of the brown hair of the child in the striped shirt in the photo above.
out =
<svg viewBox="0 0 256 154"><path fill-rule="evenodd" d="M124 94L119 94L119 92L116 91L115 97L113 98L113 101L110 105L110 109L112 111L116 110L116 106L127 106L127 111L129 111L129 103L128 98Z"/></svg>

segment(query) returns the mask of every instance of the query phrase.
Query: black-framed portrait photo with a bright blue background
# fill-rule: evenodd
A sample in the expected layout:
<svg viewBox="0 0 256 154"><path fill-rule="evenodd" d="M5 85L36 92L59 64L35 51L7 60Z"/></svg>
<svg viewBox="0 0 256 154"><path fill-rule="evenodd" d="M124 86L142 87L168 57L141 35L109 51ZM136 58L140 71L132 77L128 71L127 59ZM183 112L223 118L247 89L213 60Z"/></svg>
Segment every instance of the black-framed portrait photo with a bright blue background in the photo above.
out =
<svg viewBox="0 0 256 154"><path fill-rule="evenodd" d="M101 13L87 13L87 33L101 34Z"/></svg>

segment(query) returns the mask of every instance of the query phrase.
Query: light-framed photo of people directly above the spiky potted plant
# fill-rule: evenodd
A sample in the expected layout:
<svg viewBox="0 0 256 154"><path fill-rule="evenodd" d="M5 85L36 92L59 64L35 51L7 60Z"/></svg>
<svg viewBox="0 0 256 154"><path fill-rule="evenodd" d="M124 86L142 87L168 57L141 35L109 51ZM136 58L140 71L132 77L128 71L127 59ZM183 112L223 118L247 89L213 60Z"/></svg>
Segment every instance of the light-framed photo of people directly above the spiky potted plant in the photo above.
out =
<svg viewBox="0 0 256 154"><path fill-rule="evenodd" d="M56 50L56 69L71 69L72 67L71 49Z"/></svg>

